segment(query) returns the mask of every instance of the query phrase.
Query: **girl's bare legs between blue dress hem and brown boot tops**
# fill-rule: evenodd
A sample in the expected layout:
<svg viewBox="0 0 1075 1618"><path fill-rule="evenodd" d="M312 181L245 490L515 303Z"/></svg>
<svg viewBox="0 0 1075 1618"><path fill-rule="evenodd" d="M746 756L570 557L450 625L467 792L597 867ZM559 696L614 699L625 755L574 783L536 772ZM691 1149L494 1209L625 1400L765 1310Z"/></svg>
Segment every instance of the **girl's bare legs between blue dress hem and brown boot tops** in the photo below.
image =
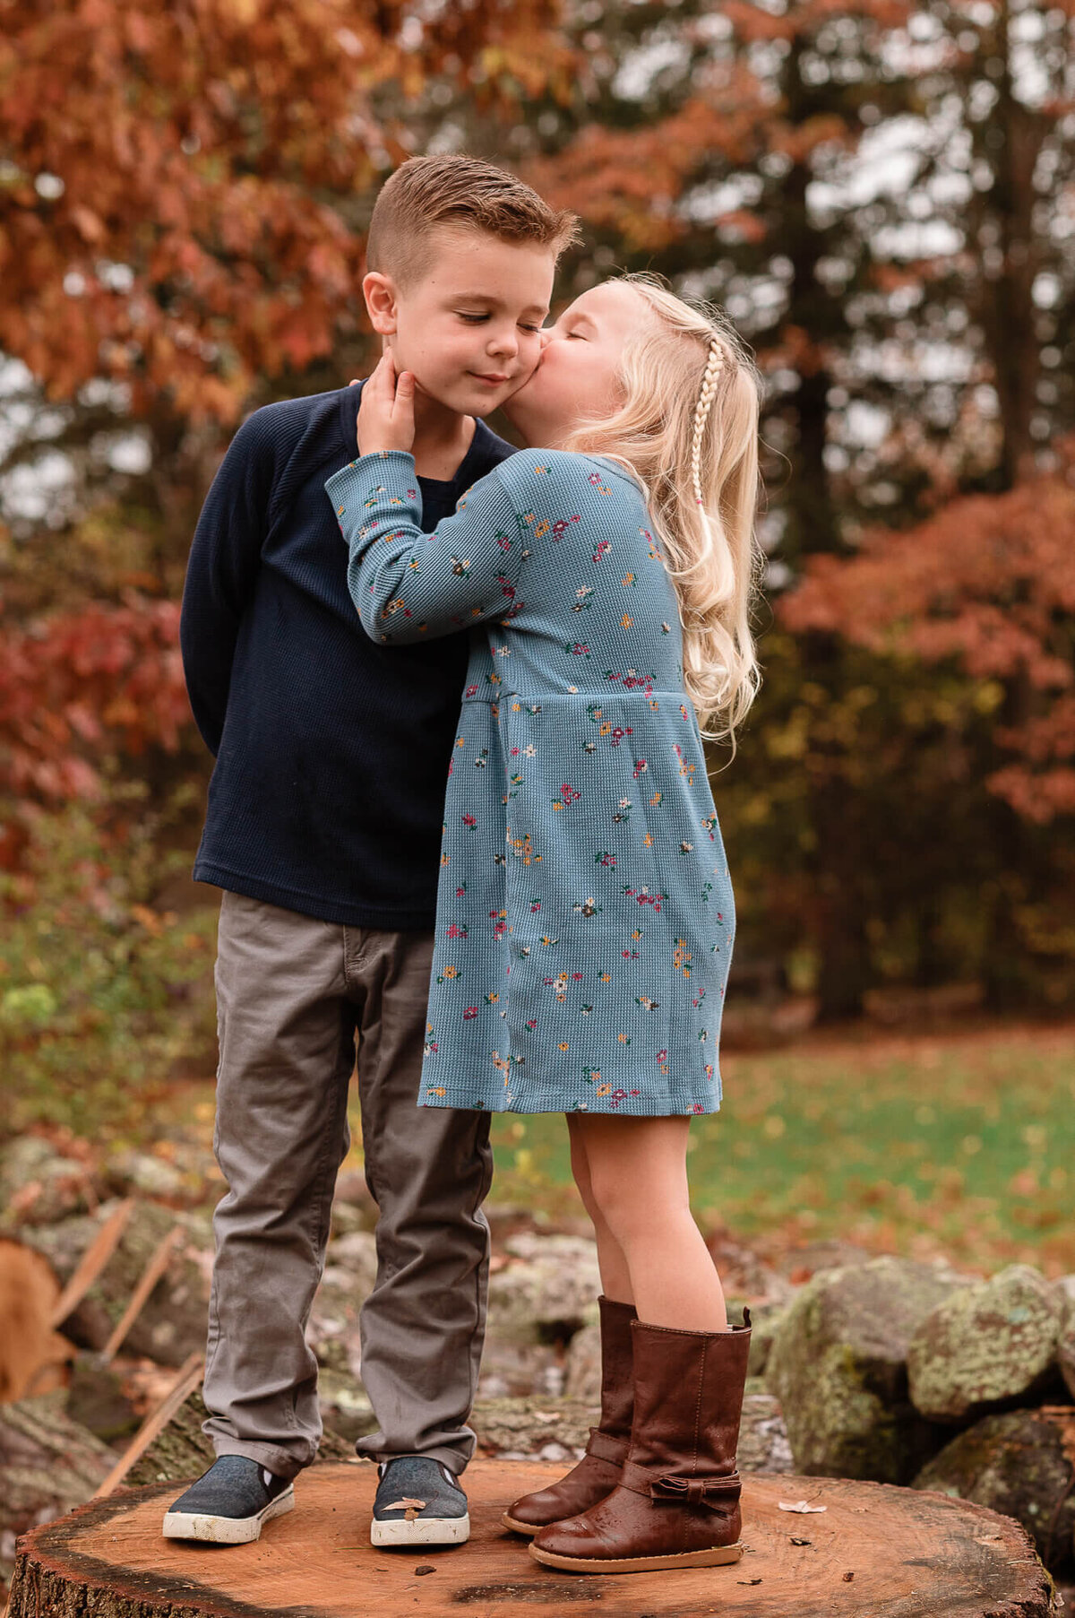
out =
<svg viewBox="0 0 1075 1618"><path fill-rule="evenodd" d="M690 1212L690 1120L571 1113L569 1128L606 1296L634 1302L650 1325L729 1330L724 1290Z"/></svg>

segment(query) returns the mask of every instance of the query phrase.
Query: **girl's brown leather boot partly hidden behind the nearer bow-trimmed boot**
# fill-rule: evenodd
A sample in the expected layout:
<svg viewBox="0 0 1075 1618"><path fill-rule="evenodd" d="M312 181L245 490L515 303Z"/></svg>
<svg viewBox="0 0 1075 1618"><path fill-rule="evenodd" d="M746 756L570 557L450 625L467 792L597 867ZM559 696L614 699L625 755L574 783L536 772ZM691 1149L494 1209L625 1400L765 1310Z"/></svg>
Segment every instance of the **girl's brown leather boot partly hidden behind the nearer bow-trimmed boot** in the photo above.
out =
<svg viewBox="0 0 1075 1618"><path fill-rule="evenodd" d="M522 1495L501 1521L516 1534L537 1534L548 1523L575 1516L603 1500L619 1482L630 1443L630 1324L637 1320L634 1304L618 1304L598 1298L601 1314L601 1421L590 1427L587 1453L566 1477L551 1489Z"/></svg>

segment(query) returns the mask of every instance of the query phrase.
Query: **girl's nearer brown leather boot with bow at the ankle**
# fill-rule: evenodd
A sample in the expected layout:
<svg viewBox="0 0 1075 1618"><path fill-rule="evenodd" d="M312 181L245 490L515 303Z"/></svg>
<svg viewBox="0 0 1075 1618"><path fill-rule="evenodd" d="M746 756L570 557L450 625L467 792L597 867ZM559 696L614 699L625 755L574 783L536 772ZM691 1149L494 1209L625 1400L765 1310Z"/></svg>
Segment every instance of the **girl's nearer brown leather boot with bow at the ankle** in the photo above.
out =
<svg viewBox="0 0 1075 1618"><path fill-rule="evenodd" d="M635 1414L618 1485L588 1511L551 1523L530 1555L571 1573L650 1573L739 1561L736 1445L750 1311L729 1332L635 1320Z"/></svg>

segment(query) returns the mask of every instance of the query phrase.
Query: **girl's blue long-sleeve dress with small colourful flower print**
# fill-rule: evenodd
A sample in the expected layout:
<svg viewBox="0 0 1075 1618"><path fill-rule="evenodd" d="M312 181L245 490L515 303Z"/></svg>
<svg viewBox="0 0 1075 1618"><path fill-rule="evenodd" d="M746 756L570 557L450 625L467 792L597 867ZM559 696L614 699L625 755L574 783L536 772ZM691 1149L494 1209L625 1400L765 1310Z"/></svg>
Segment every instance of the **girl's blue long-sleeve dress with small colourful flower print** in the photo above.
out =
<svg viewBox="0 0 1075 1618"><path fill-rule="evenodd" d="M642 490L525 450L425 534L411 455L325 489L372 639L470 629L419 1105L716 1112L734 901Z"/></svg>

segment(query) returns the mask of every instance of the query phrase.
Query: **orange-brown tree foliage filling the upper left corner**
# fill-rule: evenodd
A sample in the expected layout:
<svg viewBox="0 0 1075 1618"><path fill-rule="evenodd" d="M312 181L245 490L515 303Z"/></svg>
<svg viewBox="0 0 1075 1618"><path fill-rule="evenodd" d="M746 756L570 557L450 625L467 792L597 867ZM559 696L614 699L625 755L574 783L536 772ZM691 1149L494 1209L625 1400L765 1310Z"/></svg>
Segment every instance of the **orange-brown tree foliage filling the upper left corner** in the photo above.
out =
<svg viewBox="0 0 1075 1618"><path fill-rule="evenodd" d="M566 78L559 0L8 0L0 348L53 398L94 375L231 422L252 379L354 320L331 205L406 155L370 92L451 73L504 100Z"/></svg>

